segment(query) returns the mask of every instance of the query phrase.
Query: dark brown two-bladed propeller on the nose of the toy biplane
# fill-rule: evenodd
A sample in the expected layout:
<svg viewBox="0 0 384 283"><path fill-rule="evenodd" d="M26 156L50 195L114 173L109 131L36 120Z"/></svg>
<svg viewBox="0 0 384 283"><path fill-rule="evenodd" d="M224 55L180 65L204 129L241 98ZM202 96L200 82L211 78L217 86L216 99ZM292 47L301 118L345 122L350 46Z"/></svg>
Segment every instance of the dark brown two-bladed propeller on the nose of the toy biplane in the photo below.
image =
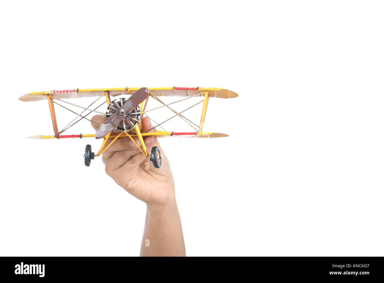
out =
<svg viewBox="0 0 384 283"><path fill-rule="evenodd" d="M115 114L109 116L108 119L100 125L95 134L96 139L105 137L110 131L112 131L113 128L116 127L122 119L129 114L129 112L131 112L137 105L147 98L148 94L149 89L147 87L142 87L132 94Z"/></svg>

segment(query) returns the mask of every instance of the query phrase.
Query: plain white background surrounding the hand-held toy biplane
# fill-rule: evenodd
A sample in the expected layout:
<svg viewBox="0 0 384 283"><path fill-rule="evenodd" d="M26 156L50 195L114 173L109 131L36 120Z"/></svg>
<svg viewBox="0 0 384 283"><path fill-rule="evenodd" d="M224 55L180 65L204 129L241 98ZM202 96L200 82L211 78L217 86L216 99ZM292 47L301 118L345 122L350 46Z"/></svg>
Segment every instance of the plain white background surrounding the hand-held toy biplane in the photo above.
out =
<svg viewBox="0 0 384 283"><path fill-rule="evenodd" d="M205 130L229 137L161 140L187 255L383 255L381 2L3 1L1 10L0 255L139 255L145 204L100 159L83 164L85 145L100 141L26 139L52 134L48 104L18 100L126 86L239 94L209 101Z"/></svg>

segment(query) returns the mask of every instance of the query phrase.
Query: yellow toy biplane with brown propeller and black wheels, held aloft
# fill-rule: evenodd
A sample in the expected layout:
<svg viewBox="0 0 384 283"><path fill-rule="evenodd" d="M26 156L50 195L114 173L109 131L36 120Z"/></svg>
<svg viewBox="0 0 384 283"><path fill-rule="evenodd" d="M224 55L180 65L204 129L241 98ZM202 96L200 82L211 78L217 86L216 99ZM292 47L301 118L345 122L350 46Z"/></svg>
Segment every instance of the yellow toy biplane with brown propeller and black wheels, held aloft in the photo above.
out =
<svg viewBox="0 0 384 283"><path fill-rule="evenodd" d="M129 97L123 97L125 95L129 95ZM119 98L111 99L111 96L114 98L119 96ZM176 97L185 97L182 99L178 99L171 103L164 103L160 96L176 96ZM146 157L149 157L152 161L154 167L161 167L161 152L157 146L152 147L151 154L147 151L146 145L144 143L143 137L146 136L156 136L156 137L227 137L226 134L214 133L214 132L203 132L203 126L205 121L205 114L207 112L208 101L210 97L218 97L218 98L234 98L237 97L233 91L227 89L220 88L202 88L202 87L157 87L157 88L116 88L116 89L73 89L73 90L52 90L46 92L31 92L29 94L23 95L19 99L22 101L36 101L41 99L47 99L52 124L53 131L55 134L53 136L33 136L30 138L33 139L62 139L62 138L83 138L83 137L96 137L96 139L103 138L103 142L97 154L91 152L91 146L88 144L84 153L84 163L86 166L91 164L91 159L94 159L94 156L101 156L106 149L108 149L111 144L113 144L116 139L119 137L129 137L134 144L140 149L142 154ZM78 97L97 97L91 104L87 107L77 105L71 102L68 102L67 98L78 98ZM99 99L104 98L104 102L100 104L98 107L91 109L90 107ZM186 99L190 99L192 97L204 97L203 100L200 100L196 104L190 106L189 108L177 112L172 107L172 104L177 102L184 101ZM155 107L153 109L147 110L147 103L149 99L154 99L161 104L159 107ZM72 111L68 109L64 105L59 102L63 102L65 104L70 104L75 107L79 107L81 109L80 113ZM99 107L104 104L107 104L107 112L97 111ZM182 115L183 112L188 109L202 103L202 112L200 117L200 124L195 124L190 119ZM61 107L67 109L70 112L73 112L77 116L66 125L61 131L58 129L56 114L55 114L55 104L60 105ZM172 105L172 107L170 106ZM157 124L146 132L141 132L141 124L140 119L147 112L154 111L156 109L161 109L162 107L167 107L170 109L174 116L170 117L164 122ZM83 114L84 112L89 111L87 114ZM103 124L97 124L94 121L91 121L86 116L91 113L98 113L106 116L106 120ZM186 122L190 127L194 130L192 132L169 132L165 131L164 128L161 127L162 124L169 121L174 117L180 117L184 122ZM80 120L85 119L99 126L98 130L95 134L77 134L77 135L65 135L63 132L68 130L74 124L79 122ZM152 119L151 119L152 120ZM153 120L152 120L153 121ZM163 130L157 130L157 127L161 127ZM156 129L155 132L151 130ZM151 131L151 132L150 132ZM138 145L133 137L137 137L140 145ZM111 139L108 145L107 141Z"/></svg>

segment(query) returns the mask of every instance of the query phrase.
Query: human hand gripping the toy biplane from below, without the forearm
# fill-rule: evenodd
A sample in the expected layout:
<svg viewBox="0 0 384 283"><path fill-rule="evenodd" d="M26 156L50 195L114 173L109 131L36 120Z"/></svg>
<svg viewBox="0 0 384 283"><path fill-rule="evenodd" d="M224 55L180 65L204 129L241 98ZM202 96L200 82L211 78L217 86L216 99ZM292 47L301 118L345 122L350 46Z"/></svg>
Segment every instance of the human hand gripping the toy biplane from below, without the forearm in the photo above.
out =
<svg viewBox="0 0 384 283"><path fill-rule="evenodd" d="M103 115L93 116L92 121L102 124ZM98 126L92 123L95 130ZM148 117L142 119L142 132L152 127ZM156 132L153 129L151 132ZM140 145L137 137L132 137ZM109 139L105 146L111 143ZM150 154L153 146L158 146L162 154L161 168L157 169L144 156L129 137L119 137L102 154L106 173L128 193L144 201L149 207L162 207L175 203L175 186L169 161L159 146L156 136L144 137L147 151ZM141 147L142 149L142 147ZM146 169L149 162L149 169ZM148 167L148 164L147 164Z"/></svg>

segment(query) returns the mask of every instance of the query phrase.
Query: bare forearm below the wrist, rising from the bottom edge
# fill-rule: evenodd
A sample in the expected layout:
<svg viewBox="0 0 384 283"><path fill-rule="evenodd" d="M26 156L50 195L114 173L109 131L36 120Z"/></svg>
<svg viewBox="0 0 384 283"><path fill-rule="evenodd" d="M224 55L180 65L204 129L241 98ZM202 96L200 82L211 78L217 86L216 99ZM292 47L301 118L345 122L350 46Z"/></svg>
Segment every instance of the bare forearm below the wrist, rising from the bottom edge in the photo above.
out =
<svg viewBox="0 0 384 283"><path fill-rule="evenodd" d="M141 256L185 256L179 210L175 200L163 206L147 205Z"/></svg>

